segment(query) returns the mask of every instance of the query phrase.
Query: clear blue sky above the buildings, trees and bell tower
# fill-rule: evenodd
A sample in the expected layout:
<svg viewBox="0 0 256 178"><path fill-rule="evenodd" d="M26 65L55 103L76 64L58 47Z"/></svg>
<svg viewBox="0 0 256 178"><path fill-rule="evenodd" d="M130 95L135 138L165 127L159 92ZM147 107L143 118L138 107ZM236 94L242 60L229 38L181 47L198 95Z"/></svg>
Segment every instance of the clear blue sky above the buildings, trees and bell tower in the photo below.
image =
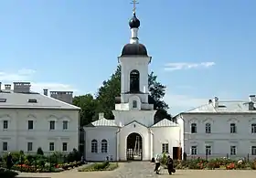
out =
<svg viewBox="0 0 256 178"><path fill-rule="evenodd" d="M140 42L172 114L256 94L255 0L139 3ZM1 1L0 80L95 93L129 42L132 9L129 0Z"/></svg>

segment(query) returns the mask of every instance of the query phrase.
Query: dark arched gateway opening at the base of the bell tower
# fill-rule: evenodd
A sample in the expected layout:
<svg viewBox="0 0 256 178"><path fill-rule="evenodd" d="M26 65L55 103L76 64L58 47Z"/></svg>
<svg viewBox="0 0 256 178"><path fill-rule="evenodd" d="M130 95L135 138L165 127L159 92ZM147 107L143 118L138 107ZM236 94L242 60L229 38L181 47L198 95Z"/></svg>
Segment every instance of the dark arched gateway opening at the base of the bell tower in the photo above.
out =
<svg viewBox="0 0 256 178"><path fill-rule="evenodd" d="M143 160L143 138L139 133L131 133L126 140L127 161Z"/></svg>

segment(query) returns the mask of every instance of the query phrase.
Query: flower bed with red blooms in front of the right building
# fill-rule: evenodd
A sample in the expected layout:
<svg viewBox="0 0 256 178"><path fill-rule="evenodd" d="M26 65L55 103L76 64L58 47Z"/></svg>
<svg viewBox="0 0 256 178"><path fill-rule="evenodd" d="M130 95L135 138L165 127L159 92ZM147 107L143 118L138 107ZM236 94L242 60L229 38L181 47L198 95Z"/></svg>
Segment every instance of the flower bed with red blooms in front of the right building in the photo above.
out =
<svg viewBox="0 0 256 178"><path fill-rule="evenodd" d="M251 162L233 161L226 158L217 159L195 159L188 161L175 161L176 169L223 169L223 170L256 170L256 160Z"/></svg>

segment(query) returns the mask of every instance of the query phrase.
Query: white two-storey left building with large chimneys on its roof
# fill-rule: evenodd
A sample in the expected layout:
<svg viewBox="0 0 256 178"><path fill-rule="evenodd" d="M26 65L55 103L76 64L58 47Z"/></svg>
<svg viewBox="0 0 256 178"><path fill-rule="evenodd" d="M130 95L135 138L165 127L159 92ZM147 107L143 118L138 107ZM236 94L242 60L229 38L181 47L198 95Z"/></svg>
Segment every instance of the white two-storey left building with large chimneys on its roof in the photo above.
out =
<svg viewBox="0 0 256 178"><path fill-rule="evenodd" d="M72 92L44 95L30 91L29 82L14 82L1 89L0 152L70 152L79 145L80 108L71 103ZM65 100L63 102L59 99Z"/></svg>

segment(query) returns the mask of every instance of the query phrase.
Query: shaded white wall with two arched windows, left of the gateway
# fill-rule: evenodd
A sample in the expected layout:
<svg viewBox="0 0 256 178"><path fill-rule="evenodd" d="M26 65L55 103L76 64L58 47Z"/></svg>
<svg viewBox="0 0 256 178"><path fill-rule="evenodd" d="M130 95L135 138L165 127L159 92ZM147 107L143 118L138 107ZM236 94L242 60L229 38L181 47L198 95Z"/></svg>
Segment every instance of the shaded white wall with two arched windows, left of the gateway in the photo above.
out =
<svg viewBox="0 0 256 178"><path fill-rule="evenodd" d="M87 161L105 161L106 157L116 160L116 127L85 127L85 159ZM98 141L98 152L91 152L91 141ZM101 152L101 141L105 139L108 141L108 152Z"/></svg>

